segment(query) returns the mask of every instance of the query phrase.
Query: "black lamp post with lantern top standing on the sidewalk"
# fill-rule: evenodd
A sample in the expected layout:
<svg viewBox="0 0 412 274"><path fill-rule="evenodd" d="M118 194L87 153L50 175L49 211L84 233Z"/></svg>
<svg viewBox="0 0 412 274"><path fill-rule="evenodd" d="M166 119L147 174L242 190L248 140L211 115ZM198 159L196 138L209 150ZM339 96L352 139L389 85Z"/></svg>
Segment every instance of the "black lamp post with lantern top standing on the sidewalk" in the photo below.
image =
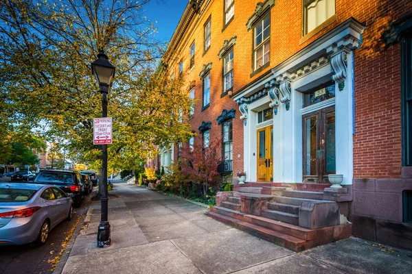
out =
<svg viewBox="0 0 412 274"><path fill-rule="evenodd" d="M115 67L108 62L107 55L103 51L98 54L98 60L91 63L91 71L98 80L100 93L102 93L102 117L107 117L108 88L115 76ZM98 229L98 247L110 245L110 224L108 223L108 198L107 198L107 145L102 145L102 198L101 217Z"/></svg>

